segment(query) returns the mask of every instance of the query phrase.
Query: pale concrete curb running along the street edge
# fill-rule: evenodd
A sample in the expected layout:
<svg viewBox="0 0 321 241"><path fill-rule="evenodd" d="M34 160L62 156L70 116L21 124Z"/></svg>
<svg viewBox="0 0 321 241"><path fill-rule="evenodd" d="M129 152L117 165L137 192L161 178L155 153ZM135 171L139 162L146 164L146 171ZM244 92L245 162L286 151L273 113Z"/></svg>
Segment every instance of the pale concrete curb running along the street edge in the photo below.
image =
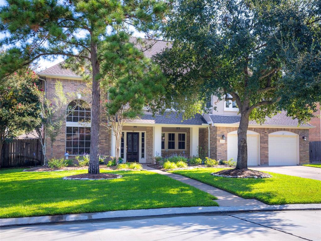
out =
<svg viewBox="0 0 321 241"><path fill-rule="evenodd" d="M0 227L90 221L90 220L99 220L99 219L151 217L151 216L164 216L164 215L205 214L205 213L215 214L215 213L230 213L230 212L243 212L243 211L285 211L285 210L321 210L321 204L286 204L286 205L230 206L230 207L182 207L182 208L138 209L138 210L124 210L124 211L64 214L64 215L53 215L53 216L0 219Z"/></svg>

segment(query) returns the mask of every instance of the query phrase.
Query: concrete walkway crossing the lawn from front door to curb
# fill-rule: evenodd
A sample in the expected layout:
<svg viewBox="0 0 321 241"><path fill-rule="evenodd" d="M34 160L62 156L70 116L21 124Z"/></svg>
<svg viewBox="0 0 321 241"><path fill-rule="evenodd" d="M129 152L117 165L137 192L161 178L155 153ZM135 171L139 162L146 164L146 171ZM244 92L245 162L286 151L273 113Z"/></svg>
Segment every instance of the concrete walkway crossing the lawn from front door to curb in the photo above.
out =
<svg viewBox="0 0 321 241"><path fill-rule="evenodd" d="M222 207L266 205L265 203L257 201L256 199L244 199L229 192L223 191L219 188L188 178L186 176L164 172L158 169L150 168L148 166L144 166L144 169L156 172L158 174L167 175L175 180L194 186L208 194L211 194L218 198L218 200L215 200L215 202L217 202Z"/></svg>

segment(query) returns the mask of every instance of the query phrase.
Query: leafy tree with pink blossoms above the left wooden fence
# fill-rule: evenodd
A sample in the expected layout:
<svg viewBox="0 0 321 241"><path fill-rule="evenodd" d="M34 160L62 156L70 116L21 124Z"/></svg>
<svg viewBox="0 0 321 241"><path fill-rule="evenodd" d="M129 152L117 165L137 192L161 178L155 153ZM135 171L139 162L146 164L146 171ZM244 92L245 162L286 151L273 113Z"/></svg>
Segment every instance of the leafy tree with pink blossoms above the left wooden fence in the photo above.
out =
<svg viewBox="0 0 321 241"><path fill-rule="evenodd" d="M0 81L0 163L4 142L35 128L40 116L39 79L32 70L19 70Z"/></svg>

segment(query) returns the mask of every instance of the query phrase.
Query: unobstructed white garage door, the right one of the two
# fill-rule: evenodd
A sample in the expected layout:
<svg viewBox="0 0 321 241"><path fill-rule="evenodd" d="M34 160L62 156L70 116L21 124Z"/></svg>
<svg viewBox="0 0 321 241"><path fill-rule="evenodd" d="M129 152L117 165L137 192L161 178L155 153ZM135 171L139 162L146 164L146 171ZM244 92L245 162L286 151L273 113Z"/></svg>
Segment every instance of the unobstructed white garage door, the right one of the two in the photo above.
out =
<svg viewBox="0 0 321 241"><path fill-rule="evenodd" d="M294 133L269 134L269 165L297 165L298 136Z"/></svg>

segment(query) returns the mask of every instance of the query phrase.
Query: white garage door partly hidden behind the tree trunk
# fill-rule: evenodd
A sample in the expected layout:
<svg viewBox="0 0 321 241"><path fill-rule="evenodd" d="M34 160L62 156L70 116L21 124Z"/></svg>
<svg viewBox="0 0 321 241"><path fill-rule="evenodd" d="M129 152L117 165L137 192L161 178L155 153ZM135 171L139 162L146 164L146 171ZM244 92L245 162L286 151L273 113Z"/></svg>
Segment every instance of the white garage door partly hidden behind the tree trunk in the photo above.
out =
<svg viewBox="0 0 321 241"><path fill-rule="evenodd" d="M259 164L259 135L247 135L247 165ZM227 135L227 159L238 159L238 136L237 134Z"/></svg>

